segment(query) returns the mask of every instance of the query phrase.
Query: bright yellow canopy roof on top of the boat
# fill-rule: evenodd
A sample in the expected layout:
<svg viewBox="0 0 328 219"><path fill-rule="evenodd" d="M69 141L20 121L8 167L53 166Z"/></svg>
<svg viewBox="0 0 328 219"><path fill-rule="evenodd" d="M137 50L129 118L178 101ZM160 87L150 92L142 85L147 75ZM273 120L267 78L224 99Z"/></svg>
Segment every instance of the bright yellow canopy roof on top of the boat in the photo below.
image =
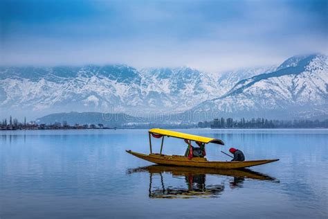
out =
<svg viewBox="0 0 328 219"><path fill-rule="evenodd" d="M217 143L217 144L221 144L224 146L224 142L221 141L220 139L212 139L212 138L208 138L208 137L202 137L202 136L198 136L198 135L194 135L194 134L185 134L183 132L175 132L175 131L171 131L171 130L162 130L160 128L153 128L153 129L149 130L149 133L161 134L163 136L175 137L178 139L188 139L191 141L200 141L202 143Z"/></svg>

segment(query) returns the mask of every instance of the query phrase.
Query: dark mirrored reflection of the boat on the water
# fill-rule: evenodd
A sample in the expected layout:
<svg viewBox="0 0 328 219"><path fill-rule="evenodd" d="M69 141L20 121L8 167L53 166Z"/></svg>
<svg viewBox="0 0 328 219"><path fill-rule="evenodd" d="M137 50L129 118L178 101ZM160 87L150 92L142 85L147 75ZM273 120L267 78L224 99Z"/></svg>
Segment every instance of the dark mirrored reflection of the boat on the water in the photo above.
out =
<svg viewBox="0 0 328 219"><path fill-rule="evenodd" d="M241 188L245 178L268 180L279 182L273 177L257 173L248 169L216 169L216 168L190 168L183 166L161 166L152 165L127 170L128 174L148 172L149 173L149 198L213 198L219 197L224 191L225 180L220 184L206 185L206 176L227 176L231 189ZM184 177L186 186L165 186L164 174L172 174L173 177ZM155 182L155 175L160 176L161 186ZM233 178L230 178L233 177Z"/></svg>

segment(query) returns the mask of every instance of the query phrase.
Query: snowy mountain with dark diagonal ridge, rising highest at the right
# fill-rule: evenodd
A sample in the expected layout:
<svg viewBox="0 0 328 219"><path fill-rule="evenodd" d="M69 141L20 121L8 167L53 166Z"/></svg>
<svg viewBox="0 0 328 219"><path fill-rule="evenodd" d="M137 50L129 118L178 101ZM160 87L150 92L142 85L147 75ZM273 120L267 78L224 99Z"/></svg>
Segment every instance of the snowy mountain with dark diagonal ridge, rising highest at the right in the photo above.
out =
<svg viewBox="0 0 328 219"><path fill-rule="evenodd" d="M295 56L276 71L240 80L224 96L189 111L201 117L313 118L328 114L326 55Z"/></svg>

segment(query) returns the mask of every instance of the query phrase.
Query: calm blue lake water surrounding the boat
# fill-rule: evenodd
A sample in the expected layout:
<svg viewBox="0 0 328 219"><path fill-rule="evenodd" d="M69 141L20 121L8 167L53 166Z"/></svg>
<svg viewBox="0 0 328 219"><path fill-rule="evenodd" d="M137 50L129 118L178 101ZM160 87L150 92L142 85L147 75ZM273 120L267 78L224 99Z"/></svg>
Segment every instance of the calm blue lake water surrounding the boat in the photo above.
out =
<svg viewBox="0 0 328 219"><path fill-rule="evenodd" d="M280 161L248 177L153 168L125 152L148 153L147 130L0 132L0 218L327 218L328 130L182 131L226 143L208 145L209 160L234 146ZM163 153L184 152L165 139Z"/></svg>

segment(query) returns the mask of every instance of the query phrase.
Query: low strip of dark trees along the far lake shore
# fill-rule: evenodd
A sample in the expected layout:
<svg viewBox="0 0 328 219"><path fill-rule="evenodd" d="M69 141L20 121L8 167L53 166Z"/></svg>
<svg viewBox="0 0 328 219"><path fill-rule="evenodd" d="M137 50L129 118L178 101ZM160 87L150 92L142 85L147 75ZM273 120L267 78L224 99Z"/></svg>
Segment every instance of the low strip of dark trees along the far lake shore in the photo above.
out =
<svg viewBox="0 0 328 219"><path fill-rule="evenodd" d="M19 122L17 119L13 119L12 116L0 121L0 130L87 130L87 129L117 129L117 128L212 128L212 129L224 129L224 128L328 128L328 119L324 121L319 120L268 120L264 118L253 119L238 119L233 118L221 118L213 119L212 121L202 121L199 123L121 123L115 125L106 125L102 123L98 124L83 124L75 123L73 125L68 124L66 121L62 123L37 123L35 121Z"/></svg>

